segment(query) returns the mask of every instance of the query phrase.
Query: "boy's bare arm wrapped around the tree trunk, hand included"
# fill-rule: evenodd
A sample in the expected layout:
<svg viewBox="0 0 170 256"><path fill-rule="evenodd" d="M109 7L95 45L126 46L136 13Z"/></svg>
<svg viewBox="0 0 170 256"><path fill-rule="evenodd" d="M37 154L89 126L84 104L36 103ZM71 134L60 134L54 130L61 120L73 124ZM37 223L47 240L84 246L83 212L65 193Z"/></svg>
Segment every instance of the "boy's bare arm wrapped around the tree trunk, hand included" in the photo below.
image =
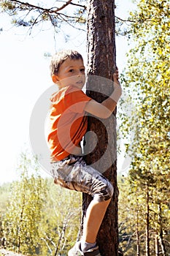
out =
<svg viewBox="0 0 170 256"><path fill-rule="evenodd" d="M112 112L115 110L117 102L122 94L122 89L119 81L117 80L117 77L118 75L115 73L113 75L114 91L112 92L112 94L101 103L98 103L95 100L91 99L85 105L86 112L98 118L108 118L112 115Z"/></svg>

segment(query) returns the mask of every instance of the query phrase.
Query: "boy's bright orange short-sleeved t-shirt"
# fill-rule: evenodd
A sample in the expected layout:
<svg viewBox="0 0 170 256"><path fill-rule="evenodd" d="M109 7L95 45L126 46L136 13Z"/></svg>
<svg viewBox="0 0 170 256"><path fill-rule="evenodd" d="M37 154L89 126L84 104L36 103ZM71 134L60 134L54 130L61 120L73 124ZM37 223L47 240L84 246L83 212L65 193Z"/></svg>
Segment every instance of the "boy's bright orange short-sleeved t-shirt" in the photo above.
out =
<svg viewBox="0 0 170 256"><path fill-rule="evenodd" d="M74 86L66 86L53 94L48 135L52 161L68 157L80 144L88 126L84 108L90 99Z"/></svg>

